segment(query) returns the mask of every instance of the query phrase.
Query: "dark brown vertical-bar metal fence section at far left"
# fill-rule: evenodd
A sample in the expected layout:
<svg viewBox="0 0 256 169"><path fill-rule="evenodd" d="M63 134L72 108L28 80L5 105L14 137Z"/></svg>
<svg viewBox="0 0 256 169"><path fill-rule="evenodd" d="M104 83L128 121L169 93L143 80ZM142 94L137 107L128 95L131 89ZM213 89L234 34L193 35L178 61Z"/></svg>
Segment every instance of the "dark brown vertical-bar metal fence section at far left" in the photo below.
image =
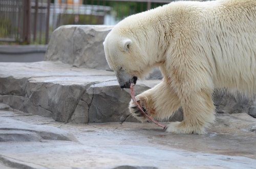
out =
<svg viewBox="0 0 256 169"><path fill-rule="evenodd" d="M50 0L0 0L0 41L46 44Z"/></svg>

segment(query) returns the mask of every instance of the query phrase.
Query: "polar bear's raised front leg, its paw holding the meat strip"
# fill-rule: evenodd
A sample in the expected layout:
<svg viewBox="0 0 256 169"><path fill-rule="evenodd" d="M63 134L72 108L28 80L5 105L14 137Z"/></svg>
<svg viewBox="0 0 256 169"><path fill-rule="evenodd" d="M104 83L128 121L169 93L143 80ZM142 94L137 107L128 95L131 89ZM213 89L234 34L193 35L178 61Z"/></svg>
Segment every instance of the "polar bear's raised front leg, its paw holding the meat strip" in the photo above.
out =
<svg viewBox="0 0 256 169"><path fill-rule="evenodd" d="M164 81L137 95L135 98L145 113L155 119L167 119L180 107L177 94ZM146 122L148 120L140 112L133 100L130 102L129 109L131 114L140 122Z"/></svg>

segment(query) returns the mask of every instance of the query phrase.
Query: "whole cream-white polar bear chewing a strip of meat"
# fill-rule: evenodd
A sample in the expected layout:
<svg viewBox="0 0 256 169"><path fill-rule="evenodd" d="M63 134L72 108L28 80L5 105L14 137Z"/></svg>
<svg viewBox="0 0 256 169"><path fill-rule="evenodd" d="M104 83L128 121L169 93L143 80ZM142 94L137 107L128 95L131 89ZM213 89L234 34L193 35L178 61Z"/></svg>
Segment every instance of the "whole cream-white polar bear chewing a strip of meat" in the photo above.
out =
<svg viewBox="0 0 256 169"><path fill-rule="evenodd" d="M215 121L215 88L256 92L256 1L174 2L121 20L104 52L121 88L159 66L163 80L136 96L155 119L182 107L165 131L203 134ZM147 120L130 102L131 113Z"/></svg>

